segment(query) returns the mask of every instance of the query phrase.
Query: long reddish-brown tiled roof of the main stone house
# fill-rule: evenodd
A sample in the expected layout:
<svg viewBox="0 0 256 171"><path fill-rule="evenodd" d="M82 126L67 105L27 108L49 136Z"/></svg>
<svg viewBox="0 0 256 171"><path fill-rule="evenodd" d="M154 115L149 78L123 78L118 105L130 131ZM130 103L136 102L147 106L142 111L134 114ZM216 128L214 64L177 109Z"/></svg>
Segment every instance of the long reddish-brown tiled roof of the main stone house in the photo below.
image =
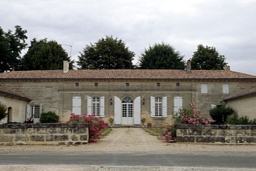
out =
<svg viewBox="0 0 256 171"><path fill-rule="evenodd" d="M30 70L0 73L0 79L256 79L231 70Z"/></svg>

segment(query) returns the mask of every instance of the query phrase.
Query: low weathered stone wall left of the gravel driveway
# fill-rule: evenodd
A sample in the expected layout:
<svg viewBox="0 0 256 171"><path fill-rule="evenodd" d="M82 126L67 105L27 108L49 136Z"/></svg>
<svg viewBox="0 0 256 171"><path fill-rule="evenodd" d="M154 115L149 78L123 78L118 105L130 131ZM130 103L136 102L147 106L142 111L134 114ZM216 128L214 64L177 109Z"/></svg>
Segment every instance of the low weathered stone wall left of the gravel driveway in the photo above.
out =
<svg viewBox="0 0 256 171"><path fill-rule="evenodd" d="M87 144L88 124L0 124L0 144Z"/></svg>

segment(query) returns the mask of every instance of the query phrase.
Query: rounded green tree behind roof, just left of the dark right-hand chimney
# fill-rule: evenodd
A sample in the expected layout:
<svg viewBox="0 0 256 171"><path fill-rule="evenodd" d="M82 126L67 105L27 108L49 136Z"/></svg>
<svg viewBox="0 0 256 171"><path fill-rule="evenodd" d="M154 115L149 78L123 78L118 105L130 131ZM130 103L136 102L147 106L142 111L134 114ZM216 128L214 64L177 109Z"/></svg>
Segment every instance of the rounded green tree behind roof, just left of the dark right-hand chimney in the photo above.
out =
<svg viewBox="0 0 256 171"><path fill-rule="evenodd" d="M141 69L149 70L183 70L185 60L174 47L162 42L145 49L138 59L138 65Z"/></svg>

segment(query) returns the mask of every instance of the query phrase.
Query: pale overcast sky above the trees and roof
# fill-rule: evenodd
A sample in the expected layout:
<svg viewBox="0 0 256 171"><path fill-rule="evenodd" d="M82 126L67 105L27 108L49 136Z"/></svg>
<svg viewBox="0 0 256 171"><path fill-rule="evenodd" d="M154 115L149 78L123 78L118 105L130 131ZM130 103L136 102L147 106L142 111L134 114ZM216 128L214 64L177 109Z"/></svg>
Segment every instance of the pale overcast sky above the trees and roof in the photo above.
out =
<svg viewBox="0 0 256 171"><path fill-rule="evenodd" d="M0 27L27 30L27 43L48 38L71 58L113 36L135 53L167 43L185 60L215 47L231 70L256 75L256 0L1 0Z"/></svg>

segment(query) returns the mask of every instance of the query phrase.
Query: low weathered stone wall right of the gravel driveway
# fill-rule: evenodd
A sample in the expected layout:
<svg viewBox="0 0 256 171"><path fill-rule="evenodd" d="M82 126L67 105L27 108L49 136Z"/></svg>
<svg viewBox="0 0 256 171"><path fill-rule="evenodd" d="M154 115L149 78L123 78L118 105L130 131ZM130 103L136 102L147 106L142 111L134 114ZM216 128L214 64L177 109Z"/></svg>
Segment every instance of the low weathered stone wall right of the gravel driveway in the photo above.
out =
<svg viewBox="0 0 256 171"><path fill-rule="evenodd" d="M176 126L177 142L211 144L256 144L256 125Z"/></svg>

